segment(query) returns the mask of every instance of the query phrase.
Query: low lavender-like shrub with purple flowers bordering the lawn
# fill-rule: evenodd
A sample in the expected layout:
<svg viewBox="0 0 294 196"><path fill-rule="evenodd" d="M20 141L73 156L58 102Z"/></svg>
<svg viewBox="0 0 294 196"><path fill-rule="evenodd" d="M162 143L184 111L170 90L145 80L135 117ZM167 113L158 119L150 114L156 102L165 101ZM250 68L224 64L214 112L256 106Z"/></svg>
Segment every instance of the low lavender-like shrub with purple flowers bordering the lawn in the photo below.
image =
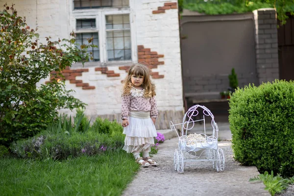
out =
<svg viewBox="0 0 294 196"><path fill-rule="evenodd" d="M98 120L96 121L98 122ZM34 137L14 142L10 148L21 158L66 159L81 155L94 155L123 147L124 135L121 125L116 122L99 121L100 127L110 126L108 133L99 133L90 128L88 131L72 131L70 134L48 130ZM103 124L107 124L103 125ZM98 124L97 124L98 125ZM114 128L119 128L115 131Z"/></svg>

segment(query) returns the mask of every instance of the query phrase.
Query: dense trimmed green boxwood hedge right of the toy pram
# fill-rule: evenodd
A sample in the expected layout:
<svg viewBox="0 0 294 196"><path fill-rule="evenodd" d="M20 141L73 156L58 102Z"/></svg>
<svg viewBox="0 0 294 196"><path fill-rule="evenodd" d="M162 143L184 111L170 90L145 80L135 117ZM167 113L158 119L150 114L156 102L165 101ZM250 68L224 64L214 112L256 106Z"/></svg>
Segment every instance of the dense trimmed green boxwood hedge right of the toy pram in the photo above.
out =
<svg viewBox="0 0 294 196"><path fill-rule="evenodd" d="M294 82L275 80L237 89L229 101L232 148L237 161L294 175Z"/></svg>

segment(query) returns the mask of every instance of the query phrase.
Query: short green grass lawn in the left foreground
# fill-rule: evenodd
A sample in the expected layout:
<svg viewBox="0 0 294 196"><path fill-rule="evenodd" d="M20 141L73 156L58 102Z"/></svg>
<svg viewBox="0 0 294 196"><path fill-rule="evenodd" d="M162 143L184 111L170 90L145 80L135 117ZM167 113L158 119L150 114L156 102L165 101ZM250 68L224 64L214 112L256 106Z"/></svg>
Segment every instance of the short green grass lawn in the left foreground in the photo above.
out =
<svg viewBox="0 0 294 196"><path fill-rule="evenodd" d="M64 161L0 159L2 196L119 196L139 165L123 150Z"/></svg>

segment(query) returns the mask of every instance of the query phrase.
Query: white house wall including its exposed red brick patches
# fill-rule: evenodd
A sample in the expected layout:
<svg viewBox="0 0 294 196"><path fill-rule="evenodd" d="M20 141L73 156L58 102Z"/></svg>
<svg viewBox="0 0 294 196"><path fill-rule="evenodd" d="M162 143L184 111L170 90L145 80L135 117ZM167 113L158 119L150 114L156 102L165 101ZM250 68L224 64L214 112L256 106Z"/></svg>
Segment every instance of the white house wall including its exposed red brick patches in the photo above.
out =
<svg viewBox="0 0 294 196"><path fill-rule="evenodd" d="M0 0L2 4L12 1ZM52 40L69 38L74 20L72 0L13 0L18 15L26 16L26 23L38 27L40 42L46 36ZM159 118L158 129L169 128L169 122L183 117L182 76L178 10L176 1L130 0L132 41L136 43L138 59L147 62L156 85ZM112 63L68 68L66 87L74 97L87 103L86 115L120 121L122 80L132 63ZM49 81L42 80L41 83ZM69 111L62 111L70 114Z"/></svg>

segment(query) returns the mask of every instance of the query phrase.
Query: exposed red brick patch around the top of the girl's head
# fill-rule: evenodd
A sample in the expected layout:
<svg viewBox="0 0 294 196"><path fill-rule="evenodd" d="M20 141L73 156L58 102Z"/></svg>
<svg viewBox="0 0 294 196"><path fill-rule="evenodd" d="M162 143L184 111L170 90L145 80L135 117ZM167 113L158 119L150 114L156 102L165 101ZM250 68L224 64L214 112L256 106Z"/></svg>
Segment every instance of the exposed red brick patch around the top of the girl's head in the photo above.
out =
<svg viewBox="0 0 294 196"><path fill-rule="evenodd" d="M156 69L157 65L163 65L164 61L159 61L158 58L163 58L163 54L158 54L156 51L151 51L151 49L145 49L144 46L138 46L138 62L146 65L150 70L150 75L153 79L163 78L164 75L159 75L158 72L152 72L152 69ZM130 66L119 67L120 70L129 71Z"/></svg>

